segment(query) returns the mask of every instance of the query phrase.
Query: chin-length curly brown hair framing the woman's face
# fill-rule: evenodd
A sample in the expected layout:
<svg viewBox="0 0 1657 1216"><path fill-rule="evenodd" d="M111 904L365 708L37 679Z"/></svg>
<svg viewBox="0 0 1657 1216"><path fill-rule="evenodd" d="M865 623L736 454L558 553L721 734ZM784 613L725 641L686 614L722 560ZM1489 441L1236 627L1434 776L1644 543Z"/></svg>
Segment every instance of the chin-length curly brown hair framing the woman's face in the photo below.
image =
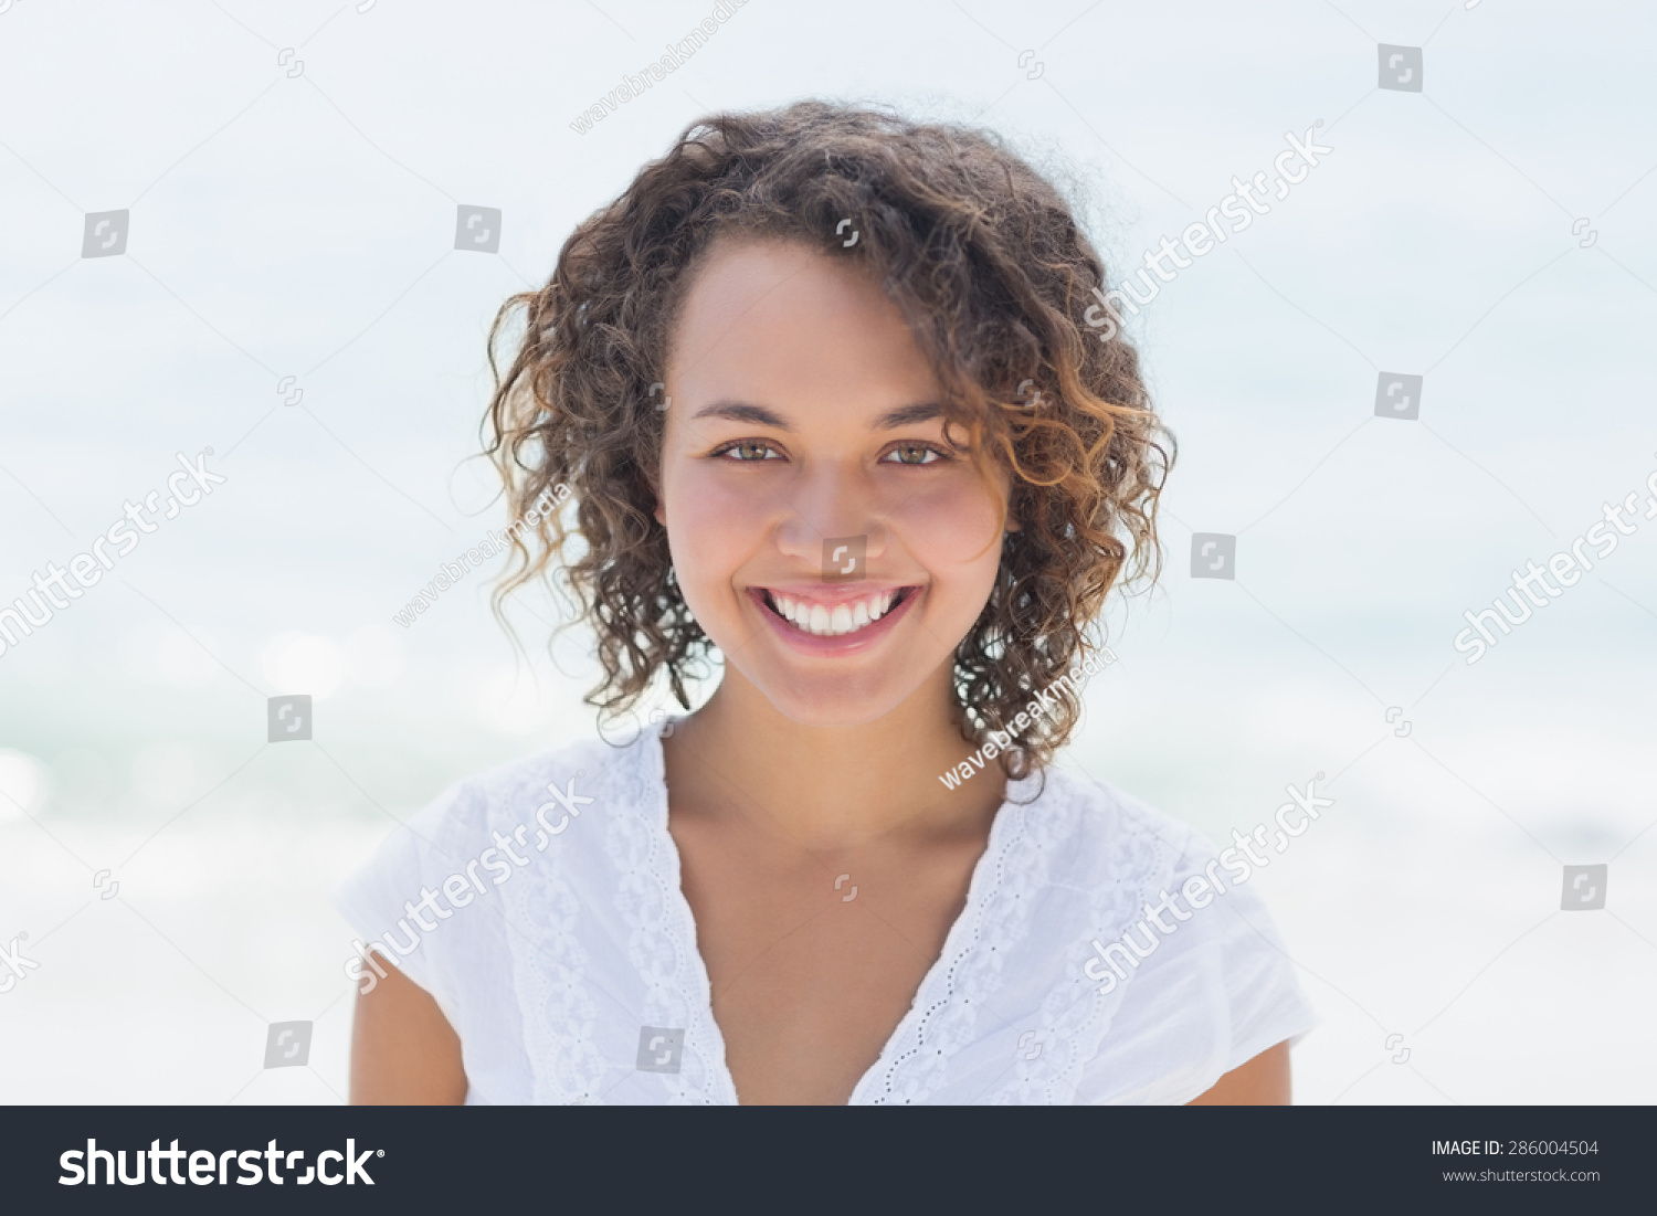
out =
<svg viewBox="0 0 1657 1216"><path fill-rule="evenodd" d="M858 234L850 249L845 219ZM1056 681L1100 644L1105 593L1123 573L1160 573L1157 500L1175 447L1133 346L1115 326L1079 325L1105 270L1070 207L983 131L819 101L717 114L582 222L547 285L507 300L490 330L486 452L509 504L520 514L560 484L575 499L573 525L552 512L514 535L497 616L507 595L558 567L597 631L605 676L587 702L623 712L664 673L689 709L686 679L706 674L713 643L653 515L656 394L678 306L721 235L858 258L933 366L946 424L966 432L981 472L991 461L1006 470L1019 528L954 651L958 721L983 744L1032 692L1054 689L1056 704L1001 755L1009 777L1042 767L1080 716L1069 681ZM502 374L495 348L517 316Z"/></svg>

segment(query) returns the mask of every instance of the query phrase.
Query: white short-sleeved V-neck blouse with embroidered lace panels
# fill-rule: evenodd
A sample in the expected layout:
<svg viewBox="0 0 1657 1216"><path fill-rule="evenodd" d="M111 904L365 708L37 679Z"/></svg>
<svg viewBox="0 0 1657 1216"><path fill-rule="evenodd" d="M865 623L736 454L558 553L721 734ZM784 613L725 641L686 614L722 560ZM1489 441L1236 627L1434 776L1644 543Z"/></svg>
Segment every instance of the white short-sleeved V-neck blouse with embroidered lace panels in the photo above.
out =
<svg viewBox="0 0 1657 1216"><path fill-rule="evenodd" d="M1009 784L943 954L852 1105L1180 1103L1299 1039L1312 1012L1258 896L1203 901L1198 883L1180 901L1213 858L1107 785L1057 769ZM737 1100L655 731L454 785L336 903L361 934L346 974L374 979L366 943L437 1001L467 1103ZM1107 951L1123 938L1132 954Z"/></svg>

